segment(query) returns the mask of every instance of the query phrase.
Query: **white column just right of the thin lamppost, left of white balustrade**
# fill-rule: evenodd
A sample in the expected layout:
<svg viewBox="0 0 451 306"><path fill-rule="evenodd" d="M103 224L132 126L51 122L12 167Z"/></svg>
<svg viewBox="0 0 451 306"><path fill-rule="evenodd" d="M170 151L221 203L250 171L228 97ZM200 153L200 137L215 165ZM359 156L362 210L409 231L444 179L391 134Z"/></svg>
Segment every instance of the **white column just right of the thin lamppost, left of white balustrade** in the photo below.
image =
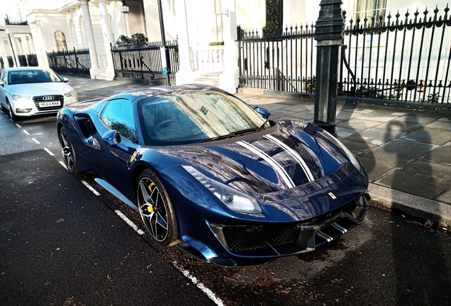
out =
<svg viewBox="0 0 451 306"><path fill-rule="evenodd" d="M190 47L188 36L188 22L186 21L186 4L185 0L175 1L175 20L177 28L179 28L179 56L180 67L179 72L175 74L177 85L194 83L193 69L191 68Z"/></svg>

